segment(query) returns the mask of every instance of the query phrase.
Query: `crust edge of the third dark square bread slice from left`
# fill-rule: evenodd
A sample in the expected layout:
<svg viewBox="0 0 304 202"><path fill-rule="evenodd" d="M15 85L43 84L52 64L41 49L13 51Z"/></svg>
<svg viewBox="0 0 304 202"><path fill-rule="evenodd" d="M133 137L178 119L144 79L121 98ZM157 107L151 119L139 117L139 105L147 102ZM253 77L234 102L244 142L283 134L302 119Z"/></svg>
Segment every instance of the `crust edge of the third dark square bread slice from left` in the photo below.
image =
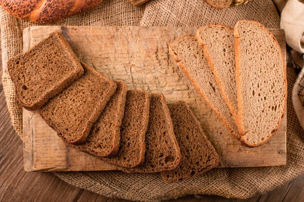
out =
<svg viewBox="0 0 304 202"><path fill-rule="evenodd" d="M119 100L120 107L119 107L119 111L118 111L118 117L120 117L120 118L118 120L118 124L115 125L115 127L116 127L116 126L121 125L121 120L122 120L124 109L125 109L125 102L126 102L126 95L127 95L127 91L128 91L128 86L127 86L127 84L125 84L122 81L115 81L115 82L116 82L117 85L121 85L121 89L122 89L122 97L120 97L121 99ZM58 134L58 136L59 135L60 134ZM111 147L111 149L109 150L108 153L95 152L94 150L91 150L91 149L88 149L88 148L85 148L85 147L79 147L78 145L68 143L67 141L65 141L65 143L68 144L68 146L70 146L70 147L73 147L73 148L75 148L79 151L83 151L83 152L86 152L86 153L94 155L94 156L112 157L112 156L117 154L118 149L119 149L119 142L120 142L119 127L112 135L113 135L112 147ZM61 138L64 139L62 136L61 136Z"/></svg>

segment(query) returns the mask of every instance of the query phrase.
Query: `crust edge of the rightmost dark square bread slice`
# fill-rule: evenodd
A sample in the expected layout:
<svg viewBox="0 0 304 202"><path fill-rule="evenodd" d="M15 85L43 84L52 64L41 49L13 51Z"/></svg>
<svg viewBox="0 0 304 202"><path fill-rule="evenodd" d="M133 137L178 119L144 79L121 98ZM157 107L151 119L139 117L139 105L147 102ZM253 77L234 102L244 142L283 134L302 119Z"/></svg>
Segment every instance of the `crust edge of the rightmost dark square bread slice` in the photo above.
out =
<svg viewBox="0 0 304 202"><path fill-rule="evenodd" d="M187 111L189 111L189 113L191 114L191 116L192 116L193 119L195 120L196 124L201 128L201 123L197 120L196 116L193 114L193 112L191 111L191 109L189 108L189 106L186 104L185 101L180 100L180 101L177 101L177 102L175 102L175 103L173 103L173 104L171 104L171 105L183 105L183 107L185 107L185 108L187 109ZM203 133L203 129L202 129L202 135L203 135L204 139L206 140L206 143L207 143L207 145L209 146L209 148L211 148L211 150L213 151L213 154L215 155L215 158L216 158L215 163L212 164L210 167L208 167L207 169L205 169L205 170L203 171L203 172L205 172L205 171L211 170L212 168L214 168L214 167L216 167L216 166L218 165L218 163L219 163L219 155L217 154L217 152L216 152L215 148L213 147L213 145L211 144L211 142L208 140L208 138L207 138L207 137L205 136L205 134ZM196 174L194 174L192 177L195 177L195 176L197 176L197 175L200 175L200 174L202 174L203 172L196 172ZM167 183L177 183L177 182L180 182L178 179L169 180L169 179L166 177L165 174L166 174L166 172L164 172L164 171L161 172L161 176L162 176L162 178L163 178L163 180L164 180L165 182L167 182ZM189 177L186 176L186 175L184 175L184 177L183 177L184 180L185 180L185 179L188 179L188 178L189 178Z"/></svg>

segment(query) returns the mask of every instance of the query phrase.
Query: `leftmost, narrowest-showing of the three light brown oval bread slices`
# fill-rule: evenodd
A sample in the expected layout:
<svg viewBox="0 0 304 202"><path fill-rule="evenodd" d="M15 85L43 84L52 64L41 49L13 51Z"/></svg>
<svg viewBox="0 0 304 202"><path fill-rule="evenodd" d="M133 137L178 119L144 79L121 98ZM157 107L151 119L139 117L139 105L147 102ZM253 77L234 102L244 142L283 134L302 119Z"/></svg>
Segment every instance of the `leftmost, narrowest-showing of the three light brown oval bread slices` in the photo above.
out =
<svg viewBox="0 0 304 202"><path fill-rule="evenodd" d="M196 37L187 35L173 41L169 45L169 53L226 128L236 139L240 139L233 115L220 93L219 85Z"/></svg>

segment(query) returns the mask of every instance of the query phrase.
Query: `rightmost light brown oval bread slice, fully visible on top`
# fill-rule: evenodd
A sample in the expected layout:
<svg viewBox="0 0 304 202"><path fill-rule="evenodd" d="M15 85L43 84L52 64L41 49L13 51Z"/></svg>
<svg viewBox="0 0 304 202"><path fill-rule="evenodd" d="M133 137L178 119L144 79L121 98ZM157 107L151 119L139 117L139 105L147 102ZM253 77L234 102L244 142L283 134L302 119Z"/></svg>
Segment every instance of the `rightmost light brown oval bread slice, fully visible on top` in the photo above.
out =
<svg viewBox="0 0 304 202"><path fill-rule="evenodd" d="M237 127L241 143L266 143L282 123L287 103L286 66L270 31L256 21L240 20L234 29Z"/></svg>

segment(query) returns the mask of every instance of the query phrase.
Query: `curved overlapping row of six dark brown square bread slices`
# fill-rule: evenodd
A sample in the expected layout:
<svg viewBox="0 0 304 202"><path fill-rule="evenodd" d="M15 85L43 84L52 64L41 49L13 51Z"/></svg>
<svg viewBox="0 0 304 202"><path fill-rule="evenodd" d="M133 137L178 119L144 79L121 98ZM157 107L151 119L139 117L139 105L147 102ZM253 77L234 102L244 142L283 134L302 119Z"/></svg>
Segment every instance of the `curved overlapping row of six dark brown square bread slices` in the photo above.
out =
<svg viewBox="0 0 304 202"><path fill-rule="evenodd" d="M8 71L23 107L38 109L68 146L124 172L161 172L173 183L219 162L185 102L168 106L161 93L105 78L80 62L59 32L13 57Z"/></svg>

